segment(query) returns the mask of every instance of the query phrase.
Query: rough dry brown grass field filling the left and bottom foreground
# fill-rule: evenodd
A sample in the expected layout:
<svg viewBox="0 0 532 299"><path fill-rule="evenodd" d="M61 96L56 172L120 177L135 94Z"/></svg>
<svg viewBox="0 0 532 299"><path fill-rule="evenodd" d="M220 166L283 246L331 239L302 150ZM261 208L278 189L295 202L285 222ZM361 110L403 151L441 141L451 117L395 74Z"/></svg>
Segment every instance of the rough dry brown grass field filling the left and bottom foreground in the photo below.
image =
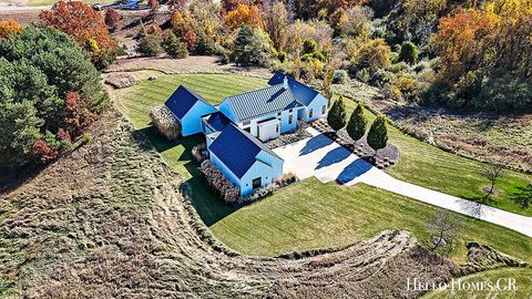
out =
<svg viewBox="0 0 532 299"><path fill-rule="evenodd" d="M457 269L406 231L335 252L241 256L121 115L91 132L92 143L0 196L0 297L407 298L419 296L407 275L441 281Z"/></svg>

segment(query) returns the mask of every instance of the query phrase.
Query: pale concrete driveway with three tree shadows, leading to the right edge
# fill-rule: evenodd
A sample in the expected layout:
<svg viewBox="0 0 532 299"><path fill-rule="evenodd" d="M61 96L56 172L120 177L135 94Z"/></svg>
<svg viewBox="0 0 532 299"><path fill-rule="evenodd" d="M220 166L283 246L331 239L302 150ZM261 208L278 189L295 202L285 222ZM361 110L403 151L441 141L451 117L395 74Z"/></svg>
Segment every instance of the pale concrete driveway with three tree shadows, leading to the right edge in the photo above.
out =
<svg viewBox="0 0 532 299"><path fill-rule="evenodd" d="M300 179L316 176L324 183L339 181L346 186L364 183L391 193L410 197L444 209L497 224L532 237L532 217L493 208L441 192L410 184L372 167L314 128L307 128L310 138L275 148L285 159L285 172Z"/></svg>

